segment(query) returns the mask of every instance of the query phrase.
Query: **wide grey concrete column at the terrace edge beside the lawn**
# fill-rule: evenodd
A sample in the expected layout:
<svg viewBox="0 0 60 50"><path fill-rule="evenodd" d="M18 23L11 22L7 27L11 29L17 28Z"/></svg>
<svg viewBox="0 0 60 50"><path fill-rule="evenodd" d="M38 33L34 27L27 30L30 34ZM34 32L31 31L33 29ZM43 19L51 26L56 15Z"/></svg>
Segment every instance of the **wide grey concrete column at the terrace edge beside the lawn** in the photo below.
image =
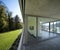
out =
<svg viewBox="0 0 60 50"><path fill-rule="evenodd" d="M24 37L23 37L23 43L27 43L28 41L28 17L24 16Z"/></svg>

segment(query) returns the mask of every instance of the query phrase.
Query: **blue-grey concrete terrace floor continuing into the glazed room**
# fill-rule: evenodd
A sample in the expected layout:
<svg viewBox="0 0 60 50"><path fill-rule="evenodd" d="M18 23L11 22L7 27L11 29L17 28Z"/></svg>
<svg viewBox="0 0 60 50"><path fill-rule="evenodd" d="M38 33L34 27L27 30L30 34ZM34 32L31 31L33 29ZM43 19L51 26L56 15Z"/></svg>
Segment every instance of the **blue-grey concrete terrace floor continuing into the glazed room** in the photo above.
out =
<svg viewBox="0 0 60 50"><path fill-rule="evenodd" d="M60 35L51 33L49 37L48 32L43 34L40 36L42 38L31 37L32 40L24 45L25 50L60 50Z"/></svg>

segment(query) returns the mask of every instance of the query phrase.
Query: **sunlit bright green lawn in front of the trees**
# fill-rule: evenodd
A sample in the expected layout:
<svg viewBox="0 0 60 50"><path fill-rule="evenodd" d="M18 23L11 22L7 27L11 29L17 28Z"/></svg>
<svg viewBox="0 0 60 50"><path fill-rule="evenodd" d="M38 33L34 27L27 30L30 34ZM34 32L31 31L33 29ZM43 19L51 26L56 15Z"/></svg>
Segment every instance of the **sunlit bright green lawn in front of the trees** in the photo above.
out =
<svg viewBox="0 0 60 50"><path fill-rule="evenodd" d="M0 33L0 50L8 50L22 30Z"/></svg>

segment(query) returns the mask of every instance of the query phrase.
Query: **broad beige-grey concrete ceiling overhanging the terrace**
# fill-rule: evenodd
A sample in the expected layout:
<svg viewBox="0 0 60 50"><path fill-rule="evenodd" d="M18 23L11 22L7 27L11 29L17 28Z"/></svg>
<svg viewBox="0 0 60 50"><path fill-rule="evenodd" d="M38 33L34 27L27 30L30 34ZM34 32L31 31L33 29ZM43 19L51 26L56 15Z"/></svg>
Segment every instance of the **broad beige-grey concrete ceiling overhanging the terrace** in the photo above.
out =
<svg viewBox="0 0 60 50"><path fill-rule="evenodd" d="M60 19L60 0L26 0L25 14Z"/></svg>

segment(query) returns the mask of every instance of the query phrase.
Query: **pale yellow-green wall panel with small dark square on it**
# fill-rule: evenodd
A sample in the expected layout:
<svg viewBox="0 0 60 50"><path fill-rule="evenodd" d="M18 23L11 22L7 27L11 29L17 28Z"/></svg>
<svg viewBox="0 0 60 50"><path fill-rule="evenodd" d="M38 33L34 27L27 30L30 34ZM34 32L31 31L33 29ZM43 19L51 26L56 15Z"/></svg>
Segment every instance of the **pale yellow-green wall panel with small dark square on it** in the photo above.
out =
<svg viewBox="0 0 60 50"><path fill-rule="evenodd" d="M36 36L36 17L28 17L28 31Z"/></svg>

